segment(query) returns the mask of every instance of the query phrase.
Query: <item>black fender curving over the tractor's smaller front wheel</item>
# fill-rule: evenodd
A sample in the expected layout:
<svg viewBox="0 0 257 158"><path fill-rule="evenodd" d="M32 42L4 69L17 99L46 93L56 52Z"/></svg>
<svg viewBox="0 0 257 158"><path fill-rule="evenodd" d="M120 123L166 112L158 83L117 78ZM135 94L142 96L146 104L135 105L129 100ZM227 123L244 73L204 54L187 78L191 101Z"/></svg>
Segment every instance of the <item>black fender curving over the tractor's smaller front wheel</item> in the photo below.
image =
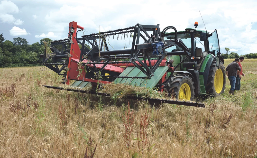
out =
<svg viewBox="0 0 257 158"><path fill-rule="evenodd" d="M198 70L189 69L187 71L174 71L174 73L190 76L194 82L196 95L200 94L200 79Z"/></svg>

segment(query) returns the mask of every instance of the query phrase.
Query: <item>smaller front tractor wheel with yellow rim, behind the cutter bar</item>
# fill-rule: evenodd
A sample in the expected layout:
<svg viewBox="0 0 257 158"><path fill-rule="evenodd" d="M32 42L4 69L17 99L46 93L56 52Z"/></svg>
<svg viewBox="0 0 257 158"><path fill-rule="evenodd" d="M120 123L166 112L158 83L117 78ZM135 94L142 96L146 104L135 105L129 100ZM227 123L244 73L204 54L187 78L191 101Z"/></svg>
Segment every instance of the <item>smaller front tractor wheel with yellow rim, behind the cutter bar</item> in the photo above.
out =
<svg viewBox="0 0 257 158"><path fill-rule="evenodd" d="M173 75L165 90L178 100L194 100L195 86L192 78L185 74Z"/></svg>

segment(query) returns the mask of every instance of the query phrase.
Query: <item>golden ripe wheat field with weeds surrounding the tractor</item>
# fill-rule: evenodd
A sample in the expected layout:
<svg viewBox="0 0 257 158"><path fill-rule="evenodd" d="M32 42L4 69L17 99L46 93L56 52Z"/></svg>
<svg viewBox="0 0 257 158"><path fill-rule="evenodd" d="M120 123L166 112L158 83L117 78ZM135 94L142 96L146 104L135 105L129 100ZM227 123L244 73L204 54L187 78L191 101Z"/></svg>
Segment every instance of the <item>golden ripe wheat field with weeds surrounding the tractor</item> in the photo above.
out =
<svg viewBox="0 0 257 158"><path fill-rule="evenodd" d="M1 68L0 157L257 157L256 62L242 62L240 91L229 95L226 79L206 108L131 100L127 129L127 102L45 88L60 78L40 67Z"/></svg>

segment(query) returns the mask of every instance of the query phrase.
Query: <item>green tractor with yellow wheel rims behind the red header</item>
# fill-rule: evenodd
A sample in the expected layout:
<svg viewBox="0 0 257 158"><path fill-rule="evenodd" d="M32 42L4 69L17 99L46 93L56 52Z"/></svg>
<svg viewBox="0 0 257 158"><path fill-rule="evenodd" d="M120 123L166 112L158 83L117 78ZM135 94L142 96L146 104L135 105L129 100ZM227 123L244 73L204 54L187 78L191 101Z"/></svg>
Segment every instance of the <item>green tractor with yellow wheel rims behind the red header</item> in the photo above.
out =
<svg viewBox="0 0 257 158"><path fill-rule="evenodd" d="M175 32L165 33L164 38L175 39L175 35ZM217 30L209 34L207 31L187 28L177 32L177 38L191 50L191 58L185 59L186 55L168 57L173 67L183 62L170 77L165 90L179 100L193 100L197 95L219 96L224 93L226 73ZM165 50L183 51L177 46Z"/></svg>

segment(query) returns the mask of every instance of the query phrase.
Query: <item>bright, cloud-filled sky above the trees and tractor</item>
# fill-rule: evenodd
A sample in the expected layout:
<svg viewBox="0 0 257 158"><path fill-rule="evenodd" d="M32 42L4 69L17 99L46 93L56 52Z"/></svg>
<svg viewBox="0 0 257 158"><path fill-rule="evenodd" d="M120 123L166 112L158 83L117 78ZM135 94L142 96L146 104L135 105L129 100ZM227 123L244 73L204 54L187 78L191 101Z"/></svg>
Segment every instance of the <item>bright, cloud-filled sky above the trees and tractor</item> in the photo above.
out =
<svg viewBox="0 0 257 158"><path fill-rule="evenodd" d="M212 33L217 29L221 52L225 47L239 55L257 53L257 1L0 1L0 34L6 40L22 37L30 44L42 38L65 39L69 22L78 22L85 34L109 31L137 23L194 28ZM79 35L83 35L82 32ZM78 35L78 36L79 36ZM119 41L118 43L121 43ZM123 43L124 47L124 43Z"/></svg>

